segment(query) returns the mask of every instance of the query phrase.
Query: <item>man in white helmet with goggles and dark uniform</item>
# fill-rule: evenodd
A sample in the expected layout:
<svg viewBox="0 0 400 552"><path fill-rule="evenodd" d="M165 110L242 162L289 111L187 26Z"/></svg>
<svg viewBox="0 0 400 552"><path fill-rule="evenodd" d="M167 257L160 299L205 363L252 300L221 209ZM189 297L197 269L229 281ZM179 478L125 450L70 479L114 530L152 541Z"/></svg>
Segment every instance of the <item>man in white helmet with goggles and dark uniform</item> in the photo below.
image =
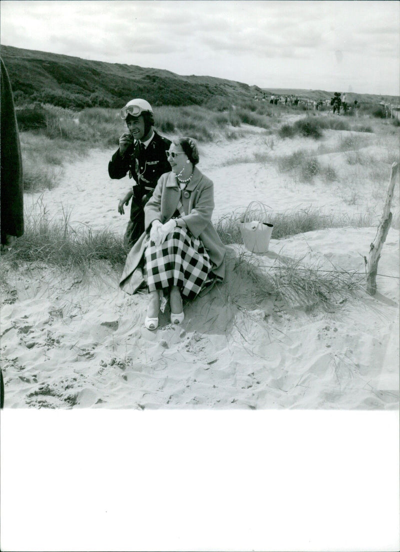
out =
<svg viewBox="0 0 400 552"><path fill-rule="evenodd" d="M134 99L121 109L121 118L126 121L129 132L119 139L119 148L108 164L110 178L123 178L129 172L134 179L132 188L118 204L118 212L123 215L124 205L132 198L131 214L124 243L132 247L145 231L143 207L151 198L157 181L171 167L166 150L171 142L153 130L153 110L150 103ZM133 196L133 197L132 197Z"/></svg>

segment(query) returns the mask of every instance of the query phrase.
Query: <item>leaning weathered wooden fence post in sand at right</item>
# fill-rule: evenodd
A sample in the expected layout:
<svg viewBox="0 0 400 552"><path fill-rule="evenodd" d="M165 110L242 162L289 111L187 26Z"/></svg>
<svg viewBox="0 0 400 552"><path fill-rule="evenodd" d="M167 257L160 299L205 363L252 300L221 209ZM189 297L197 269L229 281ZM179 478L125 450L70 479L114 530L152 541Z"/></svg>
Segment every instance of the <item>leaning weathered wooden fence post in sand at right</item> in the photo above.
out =
<svg viewBox="0 0 400 552"><path fill-rule="evenodd" d="M376 273L378 271L378 262L381 258L383 243L385 243L387 232L389 231L392 222L392 213L390 211L390 206L392 203L394 182L396 181L397 170L398 163L393 163L390 173L389 187L387 189L385 209L383 210L382 218L378 226L375 240L371 243L370 247L370 255L367 262L367 291L370 295L375 295L376 293Z"/></svg>

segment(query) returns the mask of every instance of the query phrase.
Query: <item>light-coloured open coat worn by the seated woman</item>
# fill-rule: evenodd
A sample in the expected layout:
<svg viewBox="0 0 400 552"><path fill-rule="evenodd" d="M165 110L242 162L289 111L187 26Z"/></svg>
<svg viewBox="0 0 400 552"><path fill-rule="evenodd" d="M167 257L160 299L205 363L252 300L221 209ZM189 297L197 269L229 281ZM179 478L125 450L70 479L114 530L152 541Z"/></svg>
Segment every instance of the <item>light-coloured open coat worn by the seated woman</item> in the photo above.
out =
<svg viewBox="0 0 400 552"><path fill-rule="evenodd" d="M120 288L126 293L134 294L143 284L140 264L147 245L151 223L156 219L163 224L167 222L174 215L181 198L185 211L182 219L186 222L191 235L200 238L206 248L212 263L212 272L220 279L225 277L226 247L211 222L214 210L214 184L195 167L193 177L185 192L181 194L173 172L163 174L159 179L153 197L145 206L145 232L126 258L124 272L120 280Z"/></svg>

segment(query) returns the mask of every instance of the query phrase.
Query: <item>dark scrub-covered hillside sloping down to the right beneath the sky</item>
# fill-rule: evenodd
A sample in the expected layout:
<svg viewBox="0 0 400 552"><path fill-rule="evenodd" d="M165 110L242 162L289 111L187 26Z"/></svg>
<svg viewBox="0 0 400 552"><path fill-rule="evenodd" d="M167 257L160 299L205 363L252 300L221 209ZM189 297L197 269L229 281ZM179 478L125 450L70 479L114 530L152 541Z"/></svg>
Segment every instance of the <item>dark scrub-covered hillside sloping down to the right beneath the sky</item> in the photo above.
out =
<svg viewBox="0 0 400 552"><path fill-rule="evenodd" d="M257 89L222 78L185 77L12 46L1 46L1 56L17 102L30 99L67 108L118 108L136 96L154 105L202 105L215 98L250 98Z"/></svg>

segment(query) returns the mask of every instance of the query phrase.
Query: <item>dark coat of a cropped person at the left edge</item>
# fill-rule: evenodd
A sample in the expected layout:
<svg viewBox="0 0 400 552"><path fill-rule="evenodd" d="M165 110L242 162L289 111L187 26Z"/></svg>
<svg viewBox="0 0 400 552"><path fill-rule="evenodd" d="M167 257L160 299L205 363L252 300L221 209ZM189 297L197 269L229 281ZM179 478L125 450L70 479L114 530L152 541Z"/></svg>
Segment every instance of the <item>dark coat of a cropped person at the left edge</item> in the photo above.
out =
<svg viewBox="0 0 400 552"><path fill-rule="evenodd" d="M24 182L13 92L1 60L1 242L24 233Z"/></svg>

